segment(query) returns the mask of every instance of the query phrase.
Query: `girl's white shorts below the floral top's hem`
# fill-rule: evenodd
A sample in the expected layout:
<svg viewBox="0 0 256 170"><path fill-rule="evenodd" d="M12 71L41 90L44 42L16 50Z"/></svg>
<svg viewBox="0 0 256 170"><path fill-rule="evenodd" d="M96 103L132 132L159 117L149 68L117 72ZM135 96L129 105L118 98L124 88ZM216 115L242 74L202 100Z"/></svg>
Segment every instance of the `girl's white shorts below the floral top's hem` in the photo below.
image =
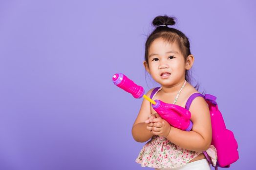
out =
<svg viewBox="0 0 256 170"><path fill-rule="evenodd" d="M194 161L188 163L187 165L179 168L172 168L172 169L155 169L155 170L211 170L211 167L207 161L207 159L200 159L198 161Z"/></svg>

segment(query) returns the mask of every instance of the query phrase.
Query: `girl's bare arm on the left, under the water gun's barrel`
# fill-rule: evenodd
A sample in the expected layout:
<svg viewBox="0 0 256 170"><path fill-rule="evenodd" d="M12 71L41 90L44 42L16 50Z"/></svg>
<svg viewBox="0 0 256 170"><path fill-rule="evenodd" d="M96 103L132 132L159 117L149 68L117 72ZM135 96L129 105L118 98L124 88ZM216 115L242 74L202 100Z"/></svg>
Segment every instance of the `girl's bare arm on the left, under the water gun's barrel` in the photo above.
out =
<svg viewBox="0 0 256 170"><path fill-rule="evenodd" d="M150 96L152 91L153 89L149 90L146 95ZM143 98L139 114L133 123L131 130L132 136L137 142L146 142L153 136L153 134L147 129L148 123L145 123L145 121L149 119L150 114L150 102Z"/></svg>

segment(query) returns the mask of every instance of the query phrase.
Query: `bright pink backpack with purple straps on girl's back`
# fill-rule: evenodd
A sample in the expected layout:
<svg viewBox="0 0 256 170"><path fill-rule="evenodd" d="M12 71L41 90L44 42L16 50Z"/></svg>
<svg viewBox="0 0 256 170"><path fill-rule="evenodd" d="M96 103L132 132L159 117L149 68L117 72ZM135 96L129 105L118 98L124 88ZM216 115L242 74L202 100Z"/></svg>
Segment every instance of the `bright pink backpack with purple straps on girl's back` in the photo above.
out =
<svg viewBox="0 0 256 170"><path fill-rule="evenodd" d="M160 87L156 87L152 91L150 95L151 99L159 88ZM217 102L215 101L217 99L215 96L210 94L202 95L200 93L194 93L189 97L185 108L189 110L192 101L198 96L203 97L209 105L213 132L211 144L217 150L217 164L215 166L215 170L217 170L217 167L228 168L230 167L230 164L234 163L239 158L237 151L238 145L235 140L235 136L232 131L226 129L225 122L218 109ZM211 158L206 152L203 153L205 154L209 164L211 164Z"/></svg>

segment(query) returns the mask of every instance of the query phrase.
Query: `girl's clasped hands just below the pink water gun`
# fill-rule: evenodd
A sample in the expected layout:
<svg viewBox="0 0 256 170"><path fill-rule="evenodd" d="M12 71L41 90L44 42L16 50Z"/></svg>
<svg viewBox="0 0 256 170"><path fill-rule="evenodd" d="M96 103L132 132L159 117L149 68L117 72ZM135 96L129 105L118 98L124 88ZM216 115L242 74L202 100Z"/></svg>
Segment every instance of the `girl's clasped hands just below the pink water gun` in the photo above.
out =
<svg viewBox="0 0 256 170"><path fill-rule="evenodd" d="M152 124L152 134L158 136L167 137L171 130L171 125L165 120L162 119L158 114L156 118L151 120Z"/></svg>

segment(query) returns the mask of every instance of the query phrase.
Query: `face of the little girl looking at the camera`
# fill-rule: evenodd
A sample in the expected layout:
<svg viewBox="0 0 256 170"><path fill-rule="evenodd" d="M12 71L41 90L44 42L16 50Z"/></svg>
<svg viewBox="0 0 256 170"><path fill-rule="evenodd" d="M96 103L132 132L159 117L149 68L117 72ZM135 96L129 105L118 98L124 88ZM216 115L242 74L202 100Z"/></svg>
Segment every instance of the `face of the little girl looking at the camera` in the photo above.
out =
<svg viewBox="0 0 256 170"><path fill-rule="evenodd" d="M144 64L145 65L145 64ZM162 86L172 86L185 81L185 59L176 43L155 39L149 47L149 68L152 78Z"/></svg>

